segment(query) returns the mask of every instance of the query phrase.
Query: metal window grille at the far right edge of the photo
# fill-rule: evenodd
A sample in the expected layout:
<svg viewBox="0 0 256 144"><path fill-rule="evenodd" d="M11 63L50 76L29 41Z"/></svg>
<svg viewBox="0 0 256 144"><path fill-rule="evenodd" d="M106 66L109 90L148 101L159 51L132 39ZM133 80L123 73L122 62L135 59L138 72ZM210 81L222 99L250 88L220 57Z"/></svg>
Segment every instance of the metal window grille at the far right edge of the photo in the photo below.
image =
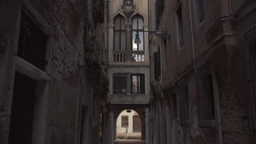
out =
<svg viewBox="0 0 256 144"><path fill-rule="evenodd" d="M246 95L248 100L249 129L256 131L256 35L249 40L245 55L242 56L246 73Z"/></svg>

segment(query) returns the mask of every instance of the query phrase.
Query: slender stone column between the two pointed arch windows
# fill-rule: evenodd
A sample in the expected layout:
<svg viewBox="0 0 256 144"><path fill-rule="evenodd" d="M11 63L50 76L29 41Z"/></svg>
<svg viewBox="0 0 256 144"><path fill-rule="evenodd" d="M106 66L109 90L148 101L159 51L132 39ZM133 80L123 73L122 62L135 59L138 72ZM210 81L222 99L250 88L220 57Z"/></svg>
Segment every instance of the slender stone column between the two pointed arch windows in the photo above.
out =
<svg viewBox="0 0 256 144"><path fill-rule="evenodd" d="M131 62L131 49L132 49L132 35L131 24L126 25L126 61Z"/></svg>

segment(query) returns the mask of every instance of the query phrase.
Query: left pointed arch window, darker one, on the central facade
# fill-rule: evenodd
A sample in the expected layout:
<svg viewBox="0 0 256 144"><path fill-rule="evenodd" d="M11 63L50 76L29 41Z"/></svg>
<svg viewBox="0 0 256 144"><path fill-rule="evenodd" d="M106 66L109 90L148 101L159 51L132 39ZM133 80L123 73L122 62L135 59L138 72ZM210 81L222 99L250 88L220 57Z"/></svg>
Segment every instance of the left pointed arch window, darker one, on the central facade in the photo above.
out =
<svg viewBox="0 0 256 144"><path fill-rule="evenodd" d="M114 19L114 50L126 51L125 18L120 14Z"/></svg>

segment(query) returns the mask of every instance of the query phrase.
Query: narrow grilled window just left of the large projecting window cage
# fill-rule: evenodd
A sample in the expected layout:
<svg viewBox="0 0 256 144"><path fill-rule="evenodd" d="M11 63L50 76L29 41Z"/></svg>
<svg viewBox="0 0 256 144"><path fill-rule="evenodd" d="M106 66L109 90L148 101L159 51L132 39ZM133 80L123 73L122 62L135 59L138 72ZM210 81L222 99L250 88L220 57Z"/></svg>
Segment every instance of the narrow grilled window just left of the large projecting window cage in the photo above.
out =
<svg viewBox="0 0 256 144"><path fill-rule="evenodd" d="M189 100L188 100L188 85L185 79L178 82L178 96L179 96L179 123L181 126L188 126Z"/></svg>

